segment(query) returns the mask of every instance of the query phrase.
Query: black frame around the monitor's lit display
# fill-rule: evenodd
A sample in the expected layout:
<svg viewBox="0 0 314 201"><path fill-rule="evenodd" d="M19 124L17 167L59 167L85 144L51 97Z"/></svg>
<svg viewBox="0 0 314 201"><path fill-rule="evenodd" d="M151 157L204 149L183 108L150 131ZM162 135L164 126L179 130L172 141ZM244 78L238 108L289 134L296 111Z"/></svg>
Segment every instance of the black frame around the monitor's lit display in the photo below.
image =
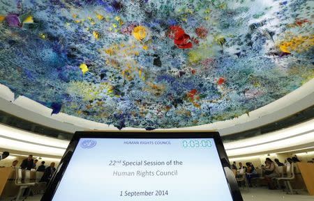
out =
<svg viewBox="0 0 314 201"><path fill-rule="evenodd" d="M227 158L227 154L225 152L225 147L223 146L223 141L220 138L218 132L213 131L187 131L187 132L159 132L159 131L77 131L75 132L70 144L66 152L64 153L59 166L54 172L54 176L51 179L51 182L47 186L47 190L41 198L41 201L52 201L54 197L54 193L57 191L59 183L63 177L64 172L66 172L66 168L68 163L70 162L71 157L77 147L81 138L142 138L142 139L171 139L171 138L214 138L214 142L216 143L216 148L218 155L220 157L221 165L223 166L223 170L225 172L225 177L227 179L227 184L230 188L230 193L232 195L233 201L243 201L241 193L238 188L237 180L234 178L234 174L230 168L229 159Z"/></svg>

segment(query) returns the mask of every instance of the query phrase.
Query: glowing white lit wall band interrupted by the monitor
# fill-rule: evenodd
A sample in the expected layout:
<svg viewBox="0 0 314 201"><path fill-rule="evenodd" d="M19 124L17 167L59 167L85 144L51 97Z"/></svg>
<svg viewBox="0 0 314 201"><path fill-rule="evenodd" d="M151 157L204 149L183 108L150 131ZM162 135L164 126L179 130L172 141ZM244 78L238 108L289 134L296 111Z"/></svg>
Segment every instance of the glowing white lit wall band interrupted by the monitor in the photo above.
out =
<svg viewBox="0 0 314 201"><path fill-rule="evenodd" d="M68 143L69 140L41 136L0 124L1 150L60 157ZM314 147L314 119L262 136L224 143L224 146L230 158Z"/></svg>

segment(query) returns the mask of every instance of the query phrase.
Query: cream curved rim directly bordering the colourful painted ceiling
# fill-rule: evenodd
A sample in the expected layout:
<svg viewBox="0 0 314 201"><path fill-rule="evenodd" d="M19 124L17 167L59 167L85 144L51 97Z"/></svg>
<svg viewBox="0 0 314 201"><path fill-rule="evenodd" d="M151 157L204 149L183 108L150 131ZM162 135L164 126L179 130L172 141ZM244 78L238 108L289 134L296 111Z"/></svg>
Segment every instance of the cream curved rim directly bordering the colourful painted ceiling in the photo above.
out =
<svg viewBox="0 0 314 201"><path fill-rule="evenodd" d="M255 111L251 111L249 115L244 114L239 118L232 120L225 120L221 122L214 122L211 124L204 124L195 127L184 127L174 129L156 129L160 131L167 130L213 130L216 129L222 136L254 129L256 127L275 122L293 115L299 111L304 110L313 105L314 102L314 79L311 79L303 86L297 88L277 99L266 106L257 108ZM90 120L84 120L75 116L67 115L65 113L59 113L57 115L51 115L52 109L47 108L38 102L34 102L27 97L20 96L14 99L14 93L9 88L0 84L0 110L6 113L10 113L19 118L29 120L42 124L45 127L52 127L61 131L74 133L75 131L83 130L117 130L112 125L93 122ZM125 128L124 130L144 130L136 128Z"/></svg>

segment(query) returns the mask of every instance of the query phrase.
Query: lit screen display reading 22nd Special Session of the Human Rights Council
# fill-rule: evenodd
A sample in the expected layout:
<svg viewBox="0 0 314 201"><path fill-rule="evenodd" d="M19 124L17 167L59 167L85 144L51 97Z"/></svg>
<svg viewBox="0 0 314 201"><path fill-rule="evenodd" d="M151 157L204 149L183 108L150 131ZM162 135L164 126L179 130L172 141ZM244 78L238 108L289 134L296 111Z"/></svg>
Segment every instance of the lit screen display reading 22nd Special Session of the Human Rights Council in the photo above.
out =
<svg viewBox="0 0 314 201"><path fill-rule="evenodd" d="M75 146L53 201L233 200L214 138L78 138Z"/></svg>

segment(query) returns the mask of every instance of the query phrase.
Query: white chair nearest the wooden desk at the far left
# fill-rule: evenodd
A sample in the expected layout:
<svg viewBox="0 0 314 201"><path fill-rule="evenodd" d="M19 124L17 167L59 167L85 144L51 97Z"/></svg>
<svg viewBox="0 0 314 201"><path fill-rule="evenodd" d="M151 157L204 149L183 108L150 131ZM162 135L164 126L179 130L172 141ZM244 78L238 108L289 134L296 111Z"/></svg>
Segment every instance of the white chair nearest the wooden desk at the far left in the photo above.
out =
<svg viewBox="0 0 314 201"><path fill-rule="evenodd" d="M35 183L29 183L30 180L30 171L25 171L24 172L24 178L23 178L23 174L22 174L22 169L20 168L15 168L15 185L16 186L20 186L19 192L17 193L16 198L13 198L12 200L18 201L20 200L21 196L23 195L24 191L26 188L29 188L30 186L34 186ZM28 183L23 183L22 179L24 179L24 182L28 182ZM11 200L11 201L12 201ZM25 200L25 199L23 199Z"/></svg>

